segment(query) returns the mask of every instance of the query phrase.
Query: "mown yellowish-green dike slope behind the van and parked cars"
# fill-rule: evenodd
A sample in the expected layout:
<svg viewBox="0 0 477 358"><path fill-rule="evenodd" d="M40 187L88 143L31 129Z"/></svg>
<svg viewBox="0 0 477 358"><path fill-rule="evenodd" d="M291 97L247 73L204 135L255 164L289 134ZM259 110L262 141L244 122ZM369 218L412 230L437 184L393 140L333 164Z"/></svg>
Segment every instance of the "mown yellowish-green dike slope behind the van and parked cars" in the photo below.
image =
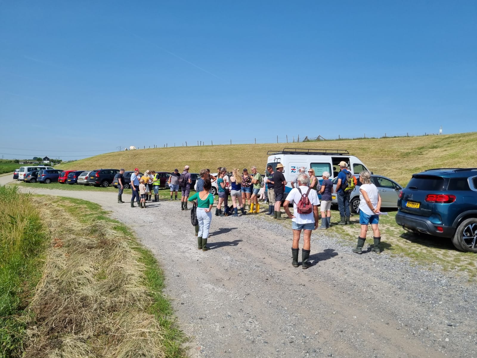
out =
<svg viewBox="0 0 477 358"><path fill-rule="evenodd" d="M218 166L265 170L268 150L294 148L347 149L375 174L405 185L411 174L429 168L477 167L477 132L443 136L354 139L307 143L237 144L137 149L101 154L65 163L64 169L140 168L172 171L189 165L191 172Z"/></svg>

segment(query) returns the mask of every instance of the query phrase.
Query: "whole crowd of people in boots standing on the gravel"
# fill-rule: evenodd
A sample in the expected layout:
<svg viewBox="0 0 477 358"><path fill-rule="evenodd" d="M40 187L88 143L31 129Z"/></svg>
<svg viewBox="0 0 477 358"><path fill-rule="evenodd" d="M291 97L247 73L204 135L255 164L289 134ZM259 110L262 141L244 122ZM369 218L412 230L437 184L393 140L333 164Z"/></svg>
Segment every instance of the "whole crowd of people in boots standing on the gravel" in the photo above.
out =
<svg viewBox="0 0 477 358"><path fill-rule="evenodd" d="M267 166L267 175L262 175L257 171L256 167L251 168L249 174L247 168L239 173L239 169L234 168L231 175L228 175L227 168L219 167L217 177L210 174L210 169L202 169L197 178L196 193L189 198L190 186L192 184L189 173L189 166L185 166L182 174L177 169L169 177L170 200L177 200L177 192L181 189L181 210L188 210L187 203L194 202L196 204L197 225L195 226L197 236L197 249L207 251L207 239L209 235L210 223L212 221L212 207L214 196L210 193L212 182L217 181L218 187L218 204L216 207L216 216L238 216L239 210L242 215L246 215L244 207L249 203L249 212L259 213L259 191L263 187L267 194L269 211L266 215L273 215L277 220L283 220L281 217L280 207L283 203L285 214L292 221L293 242L291 247L292 265L299 266L299 240L301 231L303 231L303 247L301 251L301 266L303 269L308 268L310 257L310 238L311 231L315 229L328 229L331 226L331 203L333 183L329 179L330 173L324 171L321 173L320 180L315 176L313 168L308 170L304 167L299 169L299 173L291 180L292 190L285 198L285 185L287 181L283 175L283 165L278 163L276 169L271 165ZM120 175L124 173L121 169ZM340 163L340 172L338 173L338 181L336 184L336 197L338 208L340 211L340 222L338 225L349 225L350 221L350 194L348 181L350 171L347 163ZM121 180L122 179L122 180ZM371 182L371 173L367 170L359 174L360 179L360 205L359 215L361 232L358 236L358 243L353 249L354 253L363 253L363 245L366 240L368 226L372 226L373 230L373 252L380 253L381 234L379 232L378 222L379 215L382 214L381 196L374 184ZM122 190L124 189L124 177L119 178L120 194L118 194L118 202L121 200ZM144 176L139 176L139 169L135 168L135 172L131 175L131 188L133 196L131 198L131 207L134 207L134 201L137 200L141 208L145 208L145 201L151 200L152 191L155 194L155 201L158 200L159 177L155 171L146 170ZM318 199L321 195L321 203ZM232 199L232 205L228 206L228 196ZM293 205L293 214L290 212L290 204ZM321 226L319 224L319 211L321 207Z"/></svg>

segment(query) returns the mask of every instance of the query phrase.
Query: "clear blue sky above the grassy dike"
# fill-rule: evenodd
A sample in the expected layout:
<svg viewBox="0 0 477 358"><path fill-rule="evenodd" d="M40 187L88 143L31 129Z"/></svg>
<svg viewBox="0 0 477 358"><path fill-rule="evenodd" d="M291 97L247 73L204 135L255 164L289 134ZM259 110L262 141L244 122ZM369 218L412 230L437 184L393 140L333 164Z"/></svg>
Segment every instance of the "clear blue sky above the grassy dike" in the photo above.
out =
<svg viewBox="0 0 477 358"><path fill-rule="evenodd" d="M474 0L0 0L5 158L476 123Z"/></svg>

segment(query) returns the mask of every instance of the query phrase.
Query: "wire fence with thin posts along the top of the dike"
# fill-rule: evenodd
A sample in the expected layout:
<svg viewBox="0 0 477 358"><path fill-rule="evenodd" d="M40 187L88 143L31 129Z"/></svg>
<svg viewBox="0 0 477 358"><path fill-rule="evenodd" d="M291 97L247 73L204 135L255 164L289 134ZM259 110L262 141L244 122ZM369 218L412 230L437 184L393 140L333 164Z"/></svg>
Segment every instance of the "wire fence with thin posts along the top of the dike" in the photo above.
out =
<svg viewBox="0 0 477 358"><path fill-rule="evenodd" d="M138 147L117 147L118 150L132 150L132 149L146 149L146 148L169 148L169 147L197 147L197 146L223 146L223 145L233 145L233 144L271 144L271 143L303 143L303 142L318 142L318 141L330 141L330 140L354 140L354 139L378 139L378 138L396 138L396 137L424 137L424 136L438 136L439 133L424 133L424 134L413 134L413 133L384 133L381 136L362 135L356 136L341 136L338 134L338 137L309 137L309 136L289 136L289 135L277 135L276 137L267 137L267 138L252 138L252 139L229 139L226 141L215 141L213 139L208 141L195 140L195 141L184 141L181 143L164 143L162 145L143 145Z"/></svg>

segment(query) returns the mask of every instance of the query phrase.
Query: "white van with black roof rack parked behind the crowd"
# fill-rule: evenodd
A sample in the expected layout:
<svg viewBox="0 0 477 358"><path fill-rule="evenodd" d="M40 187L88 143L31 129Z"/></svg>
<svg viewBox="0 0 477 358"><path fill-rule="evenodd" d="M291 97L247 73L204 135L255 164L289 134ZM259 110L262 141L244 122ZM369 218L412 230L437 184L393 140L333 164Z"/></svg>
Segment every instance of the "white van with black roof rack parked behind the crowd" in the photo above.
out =
<svg viewBox="0 0 477 358"><path fill-rule="evenodd" d="M361 160L351 156L347 150L342 149L303 149L284 148L281 151L268 151L267 167L271 165L273 171L277 164L283 164L283 175L287 181L285 193L290 192L291 180L299 173L301 167L313 168L315 175L322 181L321 175L324 171L330 173L330 179L334 179L340 172L340 162L348 163L348 169L357 176L363 170L368 170ZM265 171L266 172L266 171ZM306 173L308 174L308 173Z"/></svg>

